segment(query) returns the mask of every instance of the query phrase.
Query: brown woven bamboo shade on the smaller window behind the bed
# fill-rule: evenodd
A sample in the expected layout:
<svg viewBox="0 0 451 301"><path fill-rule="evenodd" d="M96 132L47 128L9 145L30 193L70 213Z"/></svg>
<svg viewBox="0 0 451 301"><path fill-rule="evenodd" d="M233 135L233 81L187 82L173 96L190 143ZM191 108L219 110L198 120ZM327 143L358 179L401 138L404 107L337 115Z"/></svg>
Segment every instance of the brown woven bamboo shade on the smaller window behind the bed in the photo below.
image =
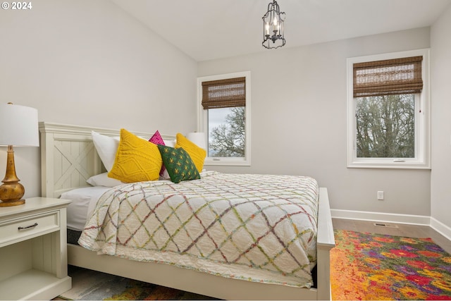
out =
<svg viewBox="0 0 451 301"><path fill-rule="evenodd" d="M246 106L246 78L228 78L202 82L204 109Z"/></svg>

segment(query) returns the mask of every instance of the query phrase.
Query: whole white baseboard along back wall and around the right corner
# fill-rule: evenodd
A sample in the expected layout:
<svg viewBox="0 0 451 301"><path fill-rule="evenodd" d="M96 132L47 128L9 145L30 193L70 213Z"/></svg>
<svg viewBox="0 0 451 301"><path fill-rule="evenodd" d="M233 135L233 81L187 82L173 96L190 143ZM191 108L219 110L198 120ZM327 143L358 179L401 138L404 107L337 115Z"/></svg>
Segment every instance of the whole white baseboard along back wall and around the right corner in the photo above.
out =
<svg viewBox="0 0 451 301"><path fill-rule="evenodd" d="M409 223L411 225L430 226L435 231L451 240L451 228L431 216L392 214L369 211L352 211L330 209L333 219L356 219L359 221L384 221L388 223Z"/></svg>

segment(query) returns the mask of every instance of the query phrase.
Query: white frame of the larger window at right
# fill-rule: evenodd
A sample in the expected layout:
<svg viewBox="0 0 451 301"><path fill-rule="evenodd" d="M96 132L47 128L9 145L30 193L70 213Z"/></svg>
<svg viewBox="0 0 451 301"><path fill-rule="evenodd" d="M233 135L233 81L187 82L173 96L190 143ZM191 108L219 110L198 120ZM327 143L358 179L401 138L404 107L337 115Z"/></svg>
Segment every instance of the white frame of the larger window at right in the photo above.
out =
<svg viewBox="0 0 451 301"><path fill-rule="evenodd" d="M356 99L353 95L353 65L367 61L423 56L421 78L423 90L415 94L415 157L414 158L358 158ZM388 54L358 56L347 59L347 168L415 168L431 169L431 107L429 82L429 49L400 51ZM417 105L419 107L417 107ZM421 112L419 112L421 110ZM418 116L418 117L417 117Z"/></svg>

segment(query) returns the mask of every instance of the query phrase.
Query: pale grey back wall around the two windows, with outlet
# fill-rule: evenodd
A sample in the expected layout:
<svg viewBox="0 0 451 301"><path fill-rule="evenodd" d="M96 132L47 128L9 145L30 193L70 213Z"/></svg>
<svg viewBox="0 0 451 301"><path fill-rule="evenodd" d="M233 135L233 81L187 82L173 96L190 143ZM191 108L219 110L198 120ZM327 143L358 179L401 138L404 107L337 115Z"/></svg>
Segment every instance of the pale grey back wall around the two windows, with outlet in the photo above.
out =
<svg viewBox="0 0 451 301"><path fill-rule="evenodd" d="M347 57L428 48L429 34L427 27L199 63L199 76L250 70L252 78L252 166L209 168L313 176L333 209L429 216L431 171L346 167Z"/></svg>

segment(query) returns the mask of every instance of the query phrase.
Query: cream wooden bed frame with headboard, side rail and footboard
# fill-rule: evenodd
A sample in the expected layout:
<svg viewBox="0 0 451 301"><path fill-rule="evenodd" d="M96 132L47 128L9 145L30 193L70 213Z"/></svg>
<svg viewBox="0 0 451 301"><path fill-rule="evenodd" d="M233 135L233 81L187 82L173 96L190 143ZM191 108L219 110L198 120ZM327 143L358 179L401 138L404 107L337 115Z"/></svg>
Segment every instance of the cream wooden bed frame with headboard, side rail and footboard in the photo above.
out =
<svg viewBox="0 0 451 301"><path fill-rule="evenodd" d="M92 143L91 130L103 135L119 135L119 130L106 128L39 123L43 197L60 197L67 190L89 186L87 178L105 171ZM142 137L152 135L132 133ZM168 135L162 137L175 139ZM224 300L330 300L329 252L335 246L335 240L326 188L320 188L319 198L317 288L223 278L168 264L98 255L71 244L68 244L68 264Z"/></svg>

